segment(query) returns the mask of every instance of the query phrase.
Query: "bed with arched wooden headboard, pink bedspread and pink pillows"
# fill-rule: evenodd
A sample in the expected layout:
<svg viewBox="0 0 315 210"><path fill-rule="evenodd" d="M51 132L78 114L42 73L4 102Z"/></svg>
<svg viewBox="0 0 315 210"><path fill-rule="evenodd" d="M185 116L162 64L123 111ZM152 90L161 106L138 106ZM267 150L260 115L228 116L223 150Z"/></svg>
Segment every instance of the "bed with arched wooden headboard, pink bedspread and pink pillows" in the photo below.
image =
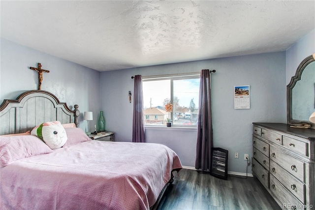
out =
<svg viewBox="0 0 315 210"><path fill-rule="evenodd" d="M90 140L77 128L79 113L78 105L71 110L42 90L4 100L0 209L158 208L172 172L182 169L177 154L161 144ZM28 132L48 121L65 125L68 139L60 148Z"/></svg>

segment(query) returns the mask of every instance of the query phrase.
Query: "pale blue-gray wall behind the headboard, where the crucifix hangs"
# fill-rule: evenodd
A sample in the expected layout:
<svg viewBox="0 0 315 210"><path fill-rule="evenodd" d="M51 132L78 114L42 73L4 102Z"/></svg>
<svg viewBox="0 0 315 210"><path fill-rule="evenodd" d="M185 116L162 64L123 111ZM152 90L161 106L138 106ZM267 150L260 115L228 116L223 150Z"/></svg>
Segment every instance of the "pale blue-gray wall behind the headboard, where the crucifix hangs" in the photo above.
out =
<svg viewBox="0 0 315 210"><path fill-rule="evenodd" d="M77 104L81 112L80 127L85 130L83 112L93 111L96 117L100 106L99 71L39 52L1 38L0 103L4 99L16 99L21 93L38 88L38 73L30 70L41 63L43 73L42 90L53 93L68 106ZM93 126L91 126L93 130Z"/></svg>

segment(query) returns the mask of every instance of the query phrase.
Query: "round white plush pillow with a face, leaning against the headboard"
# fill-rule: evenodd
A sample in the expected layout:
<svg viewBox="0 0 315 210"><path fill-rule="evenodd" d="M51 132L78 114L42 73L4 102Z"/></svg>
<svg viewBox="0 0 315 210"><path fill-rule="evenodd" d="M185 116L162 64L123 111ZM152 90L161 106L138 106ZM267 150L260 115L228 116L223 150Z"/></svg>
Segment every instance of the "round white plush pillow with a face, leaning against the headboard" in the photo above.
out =
<svg viewBox="0 0 315 210"><path fill-rule="evenodd" d="M42 123L31 131L31 135L43 140L51 149L60 148L67 141L67 135L59 121Z"/></svg>

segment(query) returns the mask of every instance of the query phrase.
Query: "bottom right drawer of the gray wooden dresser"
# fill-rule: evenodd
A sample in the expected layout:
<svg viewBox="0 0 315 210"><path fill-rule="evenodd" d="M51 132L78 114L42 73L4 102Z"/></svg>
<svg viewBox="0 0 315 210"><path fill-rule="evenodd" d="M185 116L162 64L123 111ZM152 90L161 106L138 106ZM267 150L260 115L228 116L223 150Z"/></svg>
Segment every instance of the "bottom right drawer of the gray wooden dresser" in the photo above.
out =
<svg viewBox="0 0 315 210"><path fill-rule="evenodd" d="M295 198L273 175L270 175L270 190L286 209L303 209L304 205Z"/></svg>

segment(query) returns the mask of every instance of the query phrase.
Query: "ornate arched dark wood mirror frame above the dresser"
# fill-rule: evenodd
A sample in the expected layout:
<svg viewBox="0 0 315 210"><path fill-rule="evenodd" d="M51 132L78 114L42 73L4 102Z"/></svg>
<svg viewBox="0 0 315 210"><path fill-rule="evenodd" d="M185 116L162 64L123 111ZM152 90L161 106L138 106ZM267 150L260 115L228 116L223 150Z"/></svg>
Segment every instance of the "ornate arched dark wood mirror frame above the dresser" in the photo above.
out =
<svg viewBox="0 0 315 210"><path fill-rule="evenodd" d="M292 113L292 89L295 86L296 82L301 79L303 70L312 62L315 61L315 53L313 55L308 56L305 58L299 65L296 70L294 76L292 76L290 83L286 86L286 110L287 110L287 124L292 125L295 123L307 122L312 124L312 128L315 129L315 124L311 123L310 121L300 120L300 119L293 119ZM310 99L312 100L312 99ZM314 99L313 99L314 102Z"/></svg>

